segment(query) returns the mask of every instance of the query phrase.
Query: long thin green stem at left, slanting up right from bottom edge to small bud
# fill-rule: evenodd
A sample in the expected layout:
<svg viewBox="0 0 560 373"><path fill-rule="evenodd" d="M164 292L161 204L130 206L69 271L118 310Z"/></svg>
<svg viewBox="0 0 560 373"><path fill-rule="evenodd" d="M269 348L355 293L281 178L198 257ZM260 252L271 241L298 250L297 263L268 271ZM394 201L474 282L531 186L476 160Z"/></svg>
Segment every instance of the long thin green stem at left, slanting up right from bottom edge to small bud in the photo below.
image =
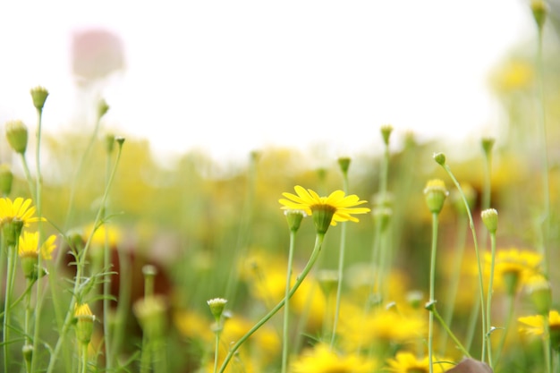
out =
<svg viewBox="0 0 560 373"><path fill-rule="evenodd" d="M66 312L66 317L64 318L64 324L61 330L60 335L58 335L58 341L56 341L56 345L55 345L55 349L53 350L53 353L50 356L50 360L48 362L48 367L47 367L47 373L52 373L55 369L55 362L56 359L58 358L58 354L60 353L61 349L64 346L64 339L66 337L66 334L68 333L68 330L70 330L70 327L72 326L72 319L73 319L73 314L74 314L74 307L76 305L76 301L78 300L78 297L81 296L81 294L79 293L79 290L81 288L81 285L83 283L82 279L82 274L85 268L85 264L86 264L86 257L88 254L88 250L89 250L89 246L91 244L91 239L93 237L93 235L95 234L97 228L98 228L98 224L101 220L101 216L103 214L103 207L106 205L106 199L109 195L109 189L111 187L111 185L113 184L113 181L115 180L115 174L116 174L116 169L117 169L117 165L119 164L119 161L121 159L121 154L123 153L123 142L119 142L119 151L117 153L117 157L115 160L115 166L113 168L113 172L111 173L111 177L109 178L109 181L106 184L106 190L103 194L103 199L101 201L100 207L98 209L98 214L94 220L93 226L94 229L91 230L91 233L89 233L89 237L88 240L82 250L82 252L80 253L78 260L78 263L76 264L76 277L74 279L74 285L73 285L73 290L72 290L72 299L70 300L70 304L68 305L68 310ZM37 332L37 330L36 330ZM37 343L37 341L34 341L34 343Z"/></svg>

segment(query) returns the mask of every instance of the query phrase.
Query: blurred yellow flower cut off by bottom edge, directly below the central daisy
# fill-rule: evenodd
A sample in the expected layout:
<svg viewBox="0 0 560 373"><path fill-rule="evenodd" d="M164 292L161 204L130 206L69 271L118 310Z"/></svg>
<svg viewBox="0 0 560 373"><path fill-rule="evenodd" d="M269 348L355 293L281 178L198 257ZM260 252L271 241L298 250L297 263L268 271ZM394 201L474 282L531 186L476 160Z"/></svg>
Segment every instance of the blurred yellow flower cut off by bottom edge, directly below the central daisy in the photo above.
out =
<svg viewBox="0 0 560 373"><path fill-rule="evenodd" d="M292 373L369 373L375 367L373 360L352 354L339 354L324 343L303 352L292 363Z"/></svg>

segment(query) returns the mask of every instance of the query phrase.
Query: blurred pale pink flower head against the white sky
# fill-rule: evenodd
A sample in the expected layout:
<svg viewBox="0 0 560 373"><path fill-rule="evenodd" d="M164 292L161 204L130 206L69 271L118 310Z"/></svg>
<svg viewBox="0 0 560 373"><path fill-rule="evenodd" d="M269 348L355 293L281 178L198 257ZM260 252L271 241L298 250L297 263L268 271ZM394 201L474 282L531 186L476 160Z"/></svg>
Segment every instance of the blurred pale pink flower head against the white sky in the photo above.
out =
<svg viewBox="0 0 560 373"><path fill-rule="evenodd" d="M107 30L81 30L72 35L72 72L79 81L97 81L123 70L123 41Z"/></svg>

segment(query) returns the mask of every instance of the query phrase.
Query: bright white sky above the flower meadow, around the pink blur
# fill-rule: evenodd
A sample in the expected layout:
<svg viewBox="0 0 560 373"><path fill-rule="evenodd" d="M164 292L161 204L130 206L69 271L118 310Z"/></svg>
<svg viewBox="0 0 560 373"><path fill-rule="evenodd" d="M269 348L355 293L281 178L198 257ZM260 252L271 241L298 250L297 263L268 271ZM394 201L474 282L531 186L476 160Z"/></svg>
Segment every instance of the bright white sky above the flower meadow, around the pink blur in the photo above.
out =
<svg viewBox="0 0 560 373"><path fill-rule="evenodd" d="M351 155L385 123L420 138L491 132L488 72L532 37L528 3L4 1L0 121L35 123L29 90L42 85L44 131L91 126L77 120L72 34L102 28L123 40L126 64L103 91L104 126L155 149Z"/></svg>

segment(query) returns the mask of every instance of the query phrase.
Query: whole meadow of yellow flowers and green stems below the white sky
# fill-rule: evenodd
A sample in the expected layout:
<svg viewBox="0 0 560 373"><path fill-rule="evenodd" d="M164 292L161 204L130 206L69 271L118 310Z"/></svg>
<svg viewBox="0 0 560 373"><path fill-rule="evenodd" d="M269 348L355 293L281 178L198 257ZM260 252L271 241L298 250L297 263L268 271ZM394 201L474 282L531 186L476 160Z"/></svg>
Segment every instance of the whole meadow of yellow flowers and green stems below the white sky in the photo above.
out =
<svg viewBox="0 0 560 373"><path fill-rule="evenodd" d="M531 6L537 52L494 77L507 131L475 149L384 124L320 167L161 165L104 100L90 134L42 133L31 89L37 123L4 125L1 370L559 372L560 90Z"/></svg>

